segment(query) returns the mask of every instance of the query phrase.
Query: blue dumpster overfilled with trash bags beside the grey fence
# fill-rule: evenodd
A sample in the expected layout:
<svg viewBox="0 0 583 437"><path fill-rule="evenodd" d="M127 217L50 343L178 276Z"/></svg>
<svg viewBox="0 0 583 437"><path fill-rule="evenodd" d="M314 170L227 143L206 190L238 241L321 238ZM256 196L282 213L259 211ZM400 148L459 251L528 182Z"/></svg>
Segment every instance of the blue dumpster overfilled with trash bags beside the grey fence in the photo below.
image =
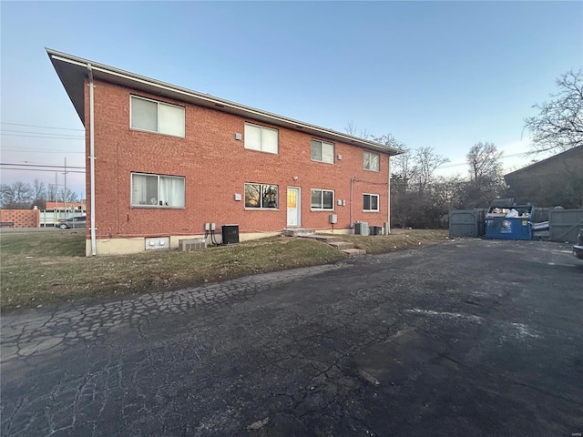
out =
<svg viewBox="0 0 583 437"><path fill-rule="evenodd" d="M511 208L517 210L517 217L506 217ZM531 219L534 212L532 205L488 208L486 239L532 239Z"/></svg>

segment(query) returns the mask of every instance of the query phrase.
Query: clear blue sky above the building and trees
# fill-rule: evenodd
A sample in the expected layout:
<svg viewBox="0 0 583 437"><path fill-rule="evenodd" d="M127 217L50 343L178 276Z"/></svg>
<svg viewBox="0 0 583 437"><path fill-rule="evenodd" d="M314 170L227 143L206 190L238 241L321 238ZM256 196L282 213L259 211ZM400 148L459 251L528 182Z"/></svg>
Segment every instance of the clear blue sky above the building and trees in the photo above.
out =
<svg viewBox="0 0 583 437"><path fill-rule="evenodd" d="M0 5L2 162L85 165L82 139L9 132L83 135L7 124L83 128L45 47L338 131L353 121L452 164L478 141L523 152L532 105L583 66L583 2ZM34 178L55 173L2 171ZM67 185L85 195L80 175Z"/></svg>

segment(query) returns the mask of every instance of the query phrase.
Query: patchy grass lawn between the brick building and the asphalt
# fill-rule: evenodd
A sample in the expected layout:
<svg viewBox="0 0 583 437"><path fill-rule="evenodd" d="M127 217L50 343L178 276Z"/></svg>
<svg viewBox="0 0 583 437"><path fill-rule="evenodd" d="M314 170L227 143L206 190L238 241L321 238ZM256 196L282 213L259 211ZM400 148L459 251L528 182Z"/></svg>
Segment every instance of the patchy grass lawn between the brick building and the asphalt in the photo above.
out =
<svg viewBox="0 0 583 437"><path fill-rule="evenodd" d="M446 231L396 230L389 236L342 236L369 253L445 240ZM85 257L85 230L0 233L3 312L99 300L234 279L253 273L328 264L342 252L312 239L273 237L206 250L148 251Z"/></svg>

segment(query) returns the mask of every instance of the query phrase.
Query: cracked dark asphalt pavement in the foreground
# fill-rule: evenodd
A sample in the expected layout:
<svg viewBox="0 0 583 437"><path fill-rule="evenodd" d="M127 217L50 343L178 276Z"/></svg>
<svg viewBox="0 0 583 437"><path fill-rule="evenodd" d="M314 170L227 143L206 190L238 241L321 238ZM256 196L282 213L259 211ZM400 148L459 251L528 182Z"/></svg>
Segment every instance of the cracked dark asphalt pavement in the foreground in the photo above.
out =
<svg viewBox="0 0 583 437"><path fill-rule="evenodd" d="M583 432L583 262L458 239L1 321L2 436Z"/></svg>

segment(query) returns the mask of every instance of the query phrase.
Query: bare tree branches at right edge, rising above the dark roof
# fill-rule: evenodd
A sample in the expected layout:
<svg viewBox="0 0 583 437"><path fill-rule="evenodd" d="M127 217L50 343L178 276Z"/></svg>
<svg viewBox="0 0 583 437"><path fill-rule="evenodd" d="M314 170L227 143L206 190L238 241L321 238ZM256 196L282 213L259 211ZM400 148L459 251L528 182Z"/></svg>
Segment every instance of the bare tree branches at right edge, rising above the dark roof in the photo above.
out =
<svg viewBox="0 0 583 437"><path fill-rule="evenodd" d="M550 102L533 106L537 116L525 118L533 140L532 154L583 146L583 70L560 76L557 87Z"/></svg>

